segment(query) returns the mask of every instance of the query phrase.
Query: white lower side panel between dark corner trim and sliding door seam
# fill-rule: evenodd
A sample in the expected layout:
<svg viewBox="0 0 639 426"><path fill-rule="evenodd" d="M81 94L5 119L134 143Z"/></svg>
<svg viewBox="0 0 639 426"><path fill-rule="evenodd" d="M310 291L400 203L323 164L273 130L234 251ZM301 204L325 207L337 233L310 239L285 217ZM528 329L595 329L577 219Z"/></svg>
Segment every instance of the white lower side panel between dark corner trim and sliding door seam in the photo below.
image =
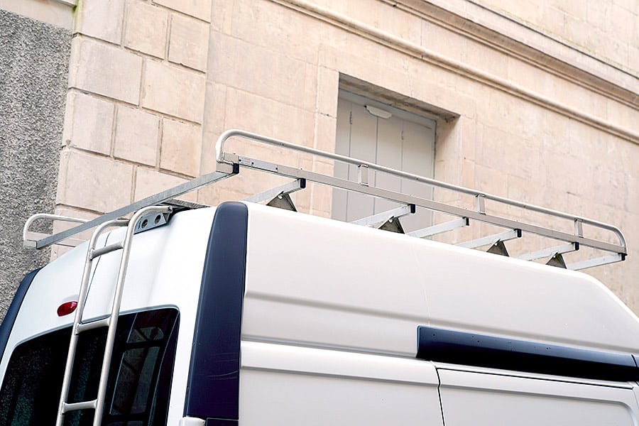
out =
<svg viewBox="0 0 639 426"><path fill-rule="evenodd" d="M443 425L432 364L242 342L241 425Z"/></svg>

